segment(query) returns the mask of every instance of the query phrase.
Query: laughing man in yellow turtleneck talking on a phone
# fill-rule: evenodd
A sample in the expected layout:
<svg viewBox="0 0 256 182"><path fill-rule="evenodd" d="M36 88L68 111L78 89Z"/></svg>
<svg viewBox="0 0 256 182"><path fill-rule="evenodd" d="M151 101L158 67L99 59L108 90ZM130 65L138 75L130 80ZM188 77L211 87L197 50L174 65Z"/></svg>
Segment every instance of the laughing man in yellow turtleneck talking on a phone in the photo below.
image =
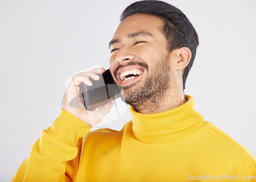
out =
<svg viewBox="0 0 256 182"><path fill-rule="evenodd" d="M179 9L161 1L130 5L109 46L132 121L120 131L89 132L113 102L94 111L70 107L77 86L91 86L89 77L99 80L104 69L81 72L12 181L256 181L253 154L184 95L198 36Z"/></svg>

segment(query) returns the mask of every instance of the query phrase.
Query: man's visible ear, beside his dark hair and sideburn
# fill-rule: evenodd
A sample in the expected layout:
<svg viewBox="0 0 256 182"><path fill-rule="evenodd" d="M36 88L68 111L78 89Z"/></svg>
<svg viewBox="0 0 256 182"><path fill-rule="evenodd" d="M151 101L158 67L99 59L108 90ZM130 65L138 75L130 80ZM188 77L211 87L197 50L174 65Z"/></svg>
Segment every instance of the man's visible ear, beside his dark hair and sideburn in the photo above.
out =
<svg viewBox="0 0 256 182"><path fill-rule="evenodd" d="M187 47L181 47L176 49L176 58L177 61L175 62L175 69L183 69L185 68L191 58L191 51Z"/></svg>

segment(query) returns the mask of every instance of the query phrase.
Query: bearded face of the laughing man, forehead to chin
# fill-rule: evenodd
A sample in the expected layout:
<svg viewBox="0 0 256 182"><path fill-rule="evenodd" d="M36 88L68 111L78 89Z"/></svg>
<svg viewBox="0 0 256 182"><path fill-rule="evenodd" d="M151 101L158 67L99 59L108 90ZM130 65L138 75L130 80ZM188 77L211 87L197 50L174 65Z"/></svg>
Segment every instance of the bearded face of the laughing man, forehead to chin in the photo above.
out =
<svg viewBox="0 0 256 182"><path fill-rule="evenodd" d="M163 20L134 14L122 21L110 42L110 70L123 88L125 102L152 112L170 82L169 52L160 32ZM157 91L157 93L156 93Z"/></svg>

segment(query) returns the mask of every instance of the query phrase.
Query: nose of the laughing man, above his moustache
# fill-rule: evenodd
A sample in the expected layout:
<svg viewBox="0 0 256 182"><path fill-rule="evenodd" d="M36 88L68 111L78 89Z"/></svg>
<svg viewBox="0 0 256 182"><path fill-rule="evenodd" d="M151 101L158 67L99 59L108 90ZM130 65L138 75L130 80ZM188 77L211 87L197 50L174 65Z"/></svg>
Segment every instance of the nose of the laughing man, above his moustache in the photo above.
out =
<svg viewBox="0 0 256 182"><path fill-rule="evenodd" d="M135 55L128 47L122 46L117 50L115 62L122 64L125 61L134 60Z"/></svg>

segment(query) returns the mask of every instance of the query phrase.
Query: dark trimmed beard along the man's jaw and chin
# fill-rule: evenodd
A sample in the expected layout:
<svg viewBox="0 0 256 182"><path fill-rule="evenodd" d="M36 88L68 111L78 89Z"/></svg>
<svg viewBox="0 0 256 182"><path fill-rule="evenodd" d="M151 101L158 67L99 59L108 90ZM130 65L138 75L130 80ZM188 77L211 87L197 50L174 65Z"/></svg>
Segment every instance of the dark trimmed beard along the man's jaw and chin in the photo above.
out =
<svg viewBox="0 0 256 182"><path fill-rule="evenodd" d="M155 65L155 72L151 73L141 88L136 83L124 86L124 102L131 105L137 112L147 110L148 113L156 113L162 105L166 90L170 83L169 57L158 61Z"/></svg>

